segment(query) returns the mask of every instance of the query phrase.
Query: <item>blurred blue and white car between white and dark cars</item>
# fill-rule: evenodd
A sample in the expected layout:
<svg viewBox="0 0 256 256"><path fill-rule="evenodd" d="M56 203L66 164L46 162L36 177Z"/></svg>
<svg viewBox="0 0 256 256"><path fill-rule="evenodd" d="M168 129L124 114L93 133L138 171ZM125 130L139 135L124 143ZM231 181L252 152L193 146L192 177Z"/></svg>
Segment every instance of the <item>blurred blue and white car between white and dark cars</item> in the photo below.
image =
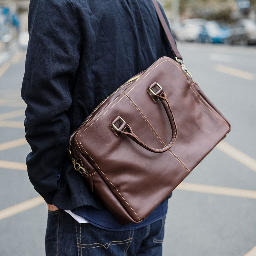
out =
<svg viewBox="0 0 256 256"><path fill-rule="evenodd" d="M214 44L225 43L229 35L229 28L221 28L216 21L206 21L198 35L198 41Z"/></svg>

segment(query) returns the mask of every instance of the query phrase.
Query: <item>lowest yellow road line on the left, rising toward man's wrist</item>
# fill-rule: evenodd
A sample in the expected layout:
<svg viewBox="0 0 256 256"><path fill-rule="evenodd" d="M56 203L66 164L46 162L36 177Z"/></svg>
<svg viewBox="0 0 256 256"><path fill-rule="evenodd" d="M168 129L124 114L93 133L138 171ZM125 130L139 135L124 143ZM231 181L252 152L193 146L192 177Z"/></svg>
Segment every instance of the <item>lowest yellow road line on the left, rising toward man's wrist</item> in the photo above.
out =
<svg viewBox="0 0 256 256"><path fill-rule="evenodd" d="M34 208L44 203L44 199L41 196L37 196L20 204L13 205L9 208L0 211L0 220L11 217L17 213L24 212L28 209Z"/></svg>

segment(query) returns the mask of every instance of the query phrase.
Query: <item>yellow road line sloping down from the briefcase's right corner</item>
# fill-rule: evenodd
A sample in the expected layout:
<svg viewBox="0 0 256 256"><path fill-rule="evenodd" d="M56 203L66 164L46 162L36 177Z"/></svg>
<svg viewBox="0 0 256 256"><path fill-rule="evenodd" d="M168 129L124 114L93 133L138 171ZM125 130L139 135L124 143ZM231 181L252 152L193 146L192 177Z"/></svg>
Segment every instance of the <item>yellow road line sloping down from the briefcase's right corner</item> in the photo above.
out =
<svg viewBox="0 0 256 256"><path fill-rule="evenodd" d="M225 153L226 155L234 158L236 161L250 168L252 171L256 172L256 160L251 156L244 154L237 148L232 147L225 141L221 141L216 148Z"/></svg>

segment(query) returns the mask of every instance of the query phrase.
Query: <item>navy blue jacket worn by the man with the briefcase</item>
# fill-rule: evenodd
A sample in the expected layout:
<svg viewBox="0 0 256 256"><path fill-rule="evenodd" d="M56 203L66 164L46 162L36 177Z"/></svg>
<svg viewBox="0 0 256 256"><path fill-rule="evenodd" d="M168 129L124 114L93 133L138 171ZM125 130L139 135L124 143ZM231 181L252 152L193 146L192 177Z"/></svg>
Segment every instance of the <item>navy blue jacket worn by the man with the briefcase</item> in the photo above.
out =
<svg viewBox="0 0 256 256"><path fill-rule="evenodd" d="M72 167L69 137L125 81L162 56L173 58L171 46L151 0L31 0L28 28L29 179L48 204L101 209Z"/></svg>

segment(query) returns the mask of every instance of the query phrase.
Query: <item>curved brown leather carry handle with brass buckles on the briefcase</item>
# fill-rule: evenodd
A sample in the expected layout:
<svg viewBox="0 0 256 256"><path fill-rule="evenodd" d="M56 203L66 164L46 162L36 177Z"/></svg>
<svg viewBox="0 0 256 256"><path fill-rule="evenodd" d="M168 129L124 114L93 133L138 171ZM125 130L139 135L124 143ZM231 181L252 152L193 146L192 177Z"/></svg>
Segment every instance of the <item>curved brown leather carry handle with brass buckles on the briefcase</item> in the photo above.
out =
<svg viewBox="0 0 256 256"><path fill-rule="evenodd" d="M155 86L157 86L159 88L159 90L157 92L155 90L153 90L153 87L155 87ZM162 87L159 84L154 83L154 84L151 84L148 89L149 89L148 94L152 98L154 103L157 103L158 100L161 101L161 103L163 104L164 109L166 111L166 114L168 116L168 119L170 121L170 124L171 124L171 127L172 127L172 138L171 138L171 140L170 140L170 142L168 143L167 146L165 146L164 148L152 148L152 147L146 145L134 134L134 132L132 131L131 126L129 124L127 124L121 116L117 116L116 119L109 126L112 128L112 130L115 132L115 134L117 134L116 131L119 134L120 133L125 134L128 137L130 137L132 140L134 140L136 143L138 143L141 147L146 148L151 152L161 153L161 152L167 151L169 148L171 148L173 143L175 142L176 137L177 137L177 126L175 124L175 120L174 120L174 117L173 117L173 114L172 114L170 103L167 100L166 95L165 95ZM118 128L117 128L116 126L117 126L118 122L119 122L119 125L118 125ZM120 122L121 122L121 124L120 124ZM117 136L117 137L119 137L119 136Z"/></svg>

